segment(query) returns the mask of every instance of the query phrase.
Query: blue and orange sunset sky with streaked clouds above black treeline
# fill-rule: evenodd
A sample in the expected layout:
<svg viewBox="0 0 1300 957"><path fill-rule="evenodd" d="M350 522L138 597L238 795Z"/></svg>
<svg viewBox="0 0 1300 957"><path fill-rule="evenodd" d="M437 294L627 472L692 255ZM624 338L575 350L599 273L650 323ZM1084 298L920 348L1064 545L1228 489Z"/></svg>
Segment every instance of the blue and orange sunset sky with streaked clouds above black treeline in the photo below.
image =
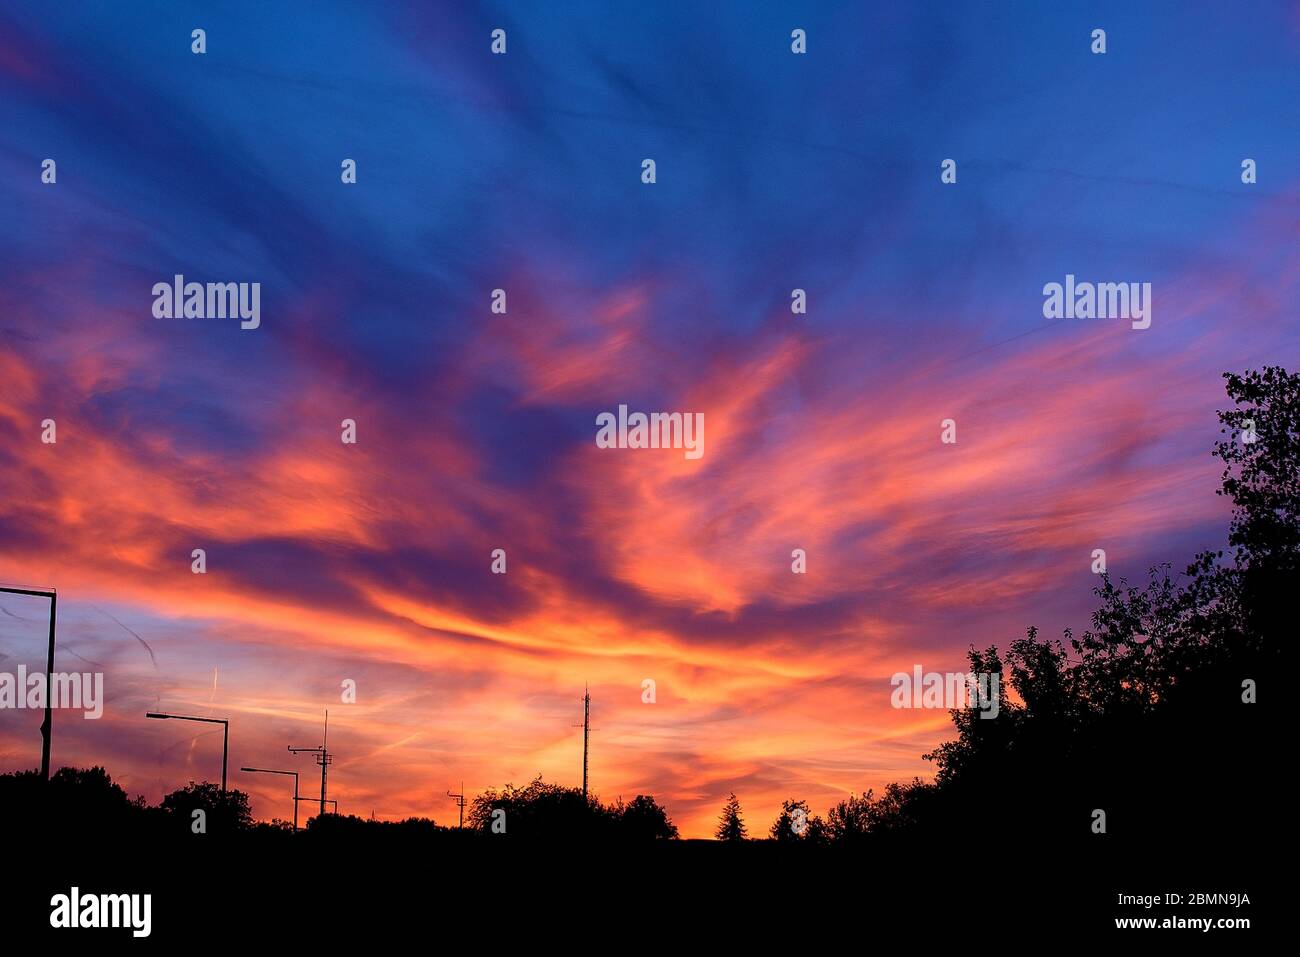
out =
<svg viewBox="0 0 1300 957"><path fill-rule="evenodd" d="M455 823L581 784L589 684L597 794L766 832L932 772L896 671L1222 547L1221 373L1300 360L1300 7L835 7L6 3L0 583L108 698L55 767L157 801L221 735L144 713L224 716L289 818L234 768L309 792L328 707L342 811ZM177 273L261 326L153 317ZM1150 328L1044 319L1067 273ZM703 456L598 449L620 403Z"/></svg>

